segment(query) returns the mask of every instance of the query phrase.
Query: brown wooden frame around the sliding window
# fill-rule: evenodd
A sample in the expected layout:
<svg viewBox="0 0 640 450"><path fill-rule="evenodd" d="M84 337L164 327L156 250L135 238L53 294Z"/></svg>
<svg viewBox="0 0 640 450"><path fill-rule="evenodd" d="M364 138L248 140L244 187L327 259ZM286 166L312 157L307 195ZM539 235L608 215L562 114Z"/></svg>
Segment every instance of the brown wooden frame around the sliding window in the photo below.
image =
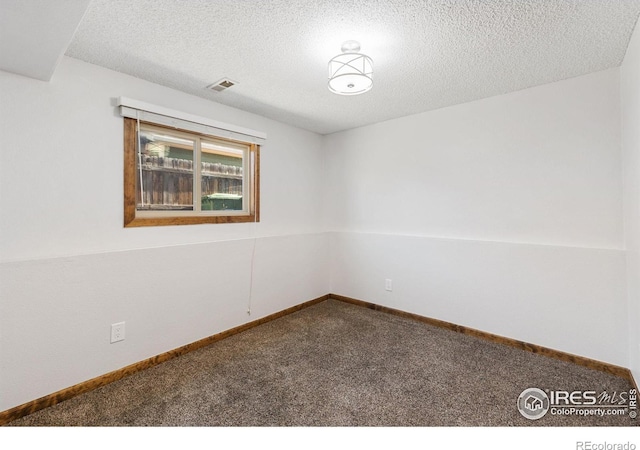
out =
<svg viewBox="0 0 640 450"><path fill-rule="evenodd" d="M172 130L166 126L152 123L140 122L154 127ZM189 216L169 216L169 217L139 217L136 215L136 190L138 183L137 176L137 125L135 119L124 118L124 226L125 227L155 227L168 225L197 225L206 223L246 223L260 222L260 146L246 143L249 146L251 173L249 179L249 213L248 214L199 214ZM204 138L221 139L218 136L194 133L188 130L176 129L177 131L197 135ZM224 139L224 138L222 138ZM195 176L195 174L194 174Z"/></svg>

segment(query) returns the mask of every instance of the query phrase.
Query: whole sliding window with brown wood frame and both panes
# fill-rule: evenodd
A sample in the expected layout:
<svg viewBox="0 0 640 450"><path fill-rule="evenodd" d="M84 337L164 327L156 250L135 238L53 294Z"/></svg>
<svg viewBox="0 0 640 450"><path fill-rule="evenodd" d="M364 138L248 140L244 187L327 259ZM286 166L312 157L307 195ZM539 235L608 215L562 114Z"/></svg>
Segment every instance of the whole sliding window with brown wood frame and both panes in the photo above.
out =
<svg viewBox="0 0 640 450"><path fill-rule="evenodd" d="M259 162L254 142L125 117L124 225L257 222Z"/></svg>

